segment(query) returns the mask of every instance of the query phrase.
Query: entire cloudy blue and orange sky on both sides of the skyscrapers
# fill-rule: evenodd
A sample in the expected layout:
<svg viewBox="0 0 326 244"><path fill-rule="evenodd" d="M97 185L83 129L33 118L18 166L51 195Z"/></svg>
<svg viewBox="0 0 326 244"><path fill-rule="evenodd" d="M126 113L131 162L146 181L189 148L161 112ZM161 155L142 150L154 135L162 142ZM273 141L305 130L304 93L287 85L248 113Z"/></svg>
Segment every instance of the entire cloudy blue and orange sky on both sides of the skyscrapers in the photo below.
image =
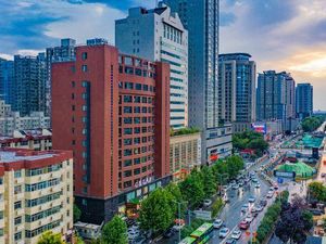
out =
<svg viewBox="0 0 326 244"><path fill-rule="evenodd" d="M71 37L114 44L114 20L155 0L0 0L0 56L36 54ZM287 70L314 86L326 111L326 0L221 0L220 52L247 52L258 72Z"/></svg>

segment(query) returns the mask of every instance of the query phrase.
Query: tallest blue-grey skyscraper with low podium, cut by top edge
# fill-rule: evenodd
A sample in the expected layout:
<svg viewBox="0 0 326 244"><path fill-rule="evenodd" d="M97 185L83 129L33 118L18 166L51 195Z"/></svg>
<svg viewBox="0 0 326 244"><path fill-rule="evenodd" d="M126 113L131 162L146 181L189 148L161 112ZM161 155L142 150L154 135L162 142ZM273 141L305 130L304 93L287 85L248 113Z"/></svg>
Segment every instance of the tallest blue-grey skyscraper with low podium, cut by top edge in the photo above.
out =
<svg viewBox="0 0 326 244"><path fill-rule="evenodd" d="M218 116L218 0L164 0L188 30L188 121L202 132L202 163L231 153ZM222 126L222 128L220 128ZM220 131L220 132L218 132Z"/></svg>

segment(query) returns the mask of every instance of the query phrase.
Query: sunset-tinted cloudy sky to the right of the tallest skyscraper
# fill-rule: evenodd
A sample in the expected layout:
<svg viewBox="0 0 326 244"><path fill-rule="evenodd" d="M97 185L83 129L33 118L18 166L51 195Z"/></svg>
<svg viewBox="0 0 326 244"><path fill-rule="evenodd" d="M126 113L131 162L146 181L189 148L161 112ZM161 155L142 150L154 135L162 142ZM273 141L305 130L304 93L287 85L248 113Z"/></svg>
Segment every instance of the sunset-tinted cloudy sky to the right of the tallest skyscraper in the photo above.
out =
<svg viewBox="0 0 326 244"><path fill-rule="evenodd" d="M288 70L312 82L315 108L326 110L325 9L325 0L221 0L222 17L235 17L221 27L220 50L252 54L258 72Z"/></svg>

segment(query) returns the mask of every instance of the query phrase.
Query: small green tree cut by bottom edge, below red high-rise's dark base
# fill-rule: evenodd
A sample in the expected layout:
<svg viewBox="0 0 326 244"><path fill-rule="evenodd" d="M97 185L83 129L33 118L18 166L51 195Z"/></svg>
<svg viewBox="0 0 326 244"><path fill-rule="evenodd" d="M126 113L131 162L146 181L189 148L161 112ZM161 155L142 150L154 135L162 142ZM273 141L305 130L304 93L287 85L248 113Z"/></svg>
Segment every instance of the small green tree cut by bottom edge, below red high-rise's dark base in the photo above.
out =
<svg viewBox="0 0 326 244"><path fill-rule="evenodd" d="M127 244L127 224L121 217L114 216L111 221L106 222L102 230L102 243Z"/></svg>

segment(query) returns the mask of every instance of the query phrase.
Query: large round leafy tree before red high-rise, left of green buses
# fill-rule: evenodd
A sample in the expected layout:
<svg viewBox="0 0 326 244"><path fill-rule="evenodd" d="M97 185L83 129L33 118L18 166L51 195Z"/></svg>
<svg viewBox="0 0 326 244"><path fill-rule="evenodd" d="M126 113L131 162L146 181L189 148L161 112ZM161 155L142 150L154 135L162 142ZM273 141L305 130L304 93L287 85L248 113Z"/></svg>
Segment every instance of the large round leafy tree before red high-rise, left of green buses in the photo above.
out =
<svg viewBox="0 0 326 244"><path fill-rule="evenodd" d="M154 233L165 231L175 219L176 203L174 196L164 189L156 189L141 202L139 222L142 230Z"/></svg>

